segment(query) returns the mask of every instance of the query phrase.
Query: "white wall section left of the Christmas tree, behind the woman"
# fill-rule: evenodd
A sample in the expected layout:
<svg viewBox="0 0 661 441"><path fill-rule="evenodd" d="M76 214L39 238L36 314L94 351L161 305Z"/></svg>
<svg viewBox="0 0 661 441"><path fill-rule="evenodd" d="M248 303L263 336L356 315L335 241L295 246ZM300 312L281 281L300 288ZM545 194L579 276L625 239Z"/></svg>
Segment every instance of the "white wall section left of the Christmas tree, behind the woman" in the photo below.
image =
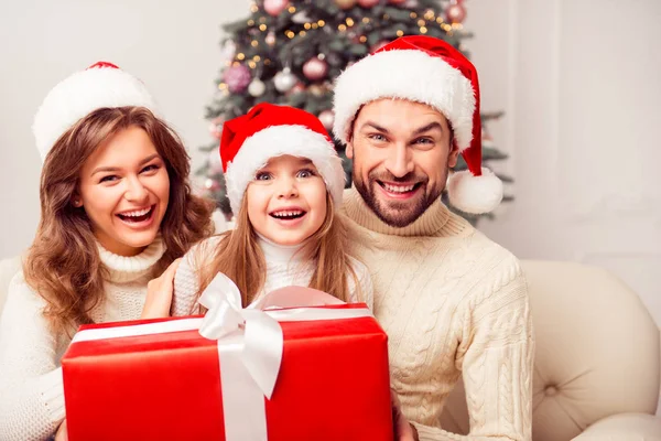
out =
<svg viewBox="0 0 661 441"><path fill-rule="evenodd" d="M0 2L0 258L31 243L41 161L32 118L57 82L99 61L140 77L183 137L194 164L212 141L204 106L221 65L220 24L248 0Z"/></svg>

